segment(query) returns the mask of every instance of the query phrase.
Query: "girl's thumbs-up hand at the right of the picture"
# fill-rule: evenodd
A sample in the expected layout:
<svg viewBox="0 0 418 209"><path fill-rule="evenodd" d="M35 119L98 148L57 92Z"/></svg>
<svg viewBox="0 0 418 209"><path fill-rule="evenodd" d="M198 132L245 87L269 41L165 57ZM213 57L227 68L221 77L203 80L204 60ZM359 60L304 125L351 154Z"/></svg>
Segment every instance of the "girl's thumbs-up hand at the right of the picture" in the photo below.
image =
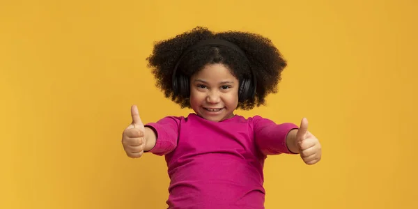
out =
<svg viewBox="0 0 418 209"><path fill-rule="evenodd" d="M308 131L307 118L303 118L300 123L300 128L296 133L296 142L300 157L306 164L319 162L322 150L318 139Z"/></svg>

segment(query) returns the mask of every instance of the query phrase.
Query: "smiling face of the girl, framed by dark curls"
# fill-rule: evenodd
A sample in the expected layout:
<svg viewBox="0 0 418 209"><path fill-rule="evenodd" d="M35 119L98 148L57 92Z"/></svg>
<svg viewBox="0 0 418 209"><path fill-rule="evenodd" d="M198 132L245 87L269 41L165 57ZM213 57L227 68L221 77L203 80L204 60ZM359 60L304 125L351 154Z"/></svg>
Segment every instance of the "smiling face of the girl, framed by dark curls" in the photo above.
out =
<svg viewBox="0 0 418 209"><path fill-rule="evenodd" d="M238 79L222 64L210 64L190 79L190 106L209 121L233 116L238 106Z"/></svg>

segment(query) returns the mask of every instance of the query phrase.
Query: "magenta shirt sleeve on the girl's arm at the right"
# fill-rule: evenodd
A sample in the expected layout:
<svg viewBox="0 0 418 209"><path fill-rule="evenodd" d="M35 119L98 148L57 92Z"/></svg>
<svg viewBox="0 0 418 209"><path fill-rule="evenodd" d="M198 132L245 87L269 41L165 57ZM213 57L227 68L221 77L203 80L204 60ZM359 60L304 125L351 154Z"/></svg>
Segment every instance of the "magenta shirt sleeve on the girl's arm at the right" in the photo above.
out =
<svg viewBox="0 0 418 209"><path fill-rule="evenodd" d="M288 132L298 129L293 123L276 124L273 121L254 116L254 139L256 145L264 155L293 154L286 146Z"/></svg>

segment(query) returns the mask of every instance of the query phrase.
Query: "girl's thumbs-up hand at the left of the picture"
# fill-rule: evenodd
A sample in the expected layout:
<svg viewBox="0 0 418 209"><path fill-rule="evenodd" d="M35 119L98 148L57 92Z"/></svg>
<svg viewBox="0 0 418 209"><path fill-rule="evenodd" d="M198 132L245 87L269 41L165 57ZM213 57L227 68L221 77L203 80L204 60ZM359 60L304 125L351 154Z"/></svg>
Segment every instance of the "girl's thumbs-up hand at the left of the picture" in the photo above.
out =
<svg viewBox="0 0 418 209"><path fill-rule="evenodd" d="M126 155L132 158L141 157L145 148L145 127L139 117L137 106L131 107L132 123L123 131L122 144Z"/></svg>

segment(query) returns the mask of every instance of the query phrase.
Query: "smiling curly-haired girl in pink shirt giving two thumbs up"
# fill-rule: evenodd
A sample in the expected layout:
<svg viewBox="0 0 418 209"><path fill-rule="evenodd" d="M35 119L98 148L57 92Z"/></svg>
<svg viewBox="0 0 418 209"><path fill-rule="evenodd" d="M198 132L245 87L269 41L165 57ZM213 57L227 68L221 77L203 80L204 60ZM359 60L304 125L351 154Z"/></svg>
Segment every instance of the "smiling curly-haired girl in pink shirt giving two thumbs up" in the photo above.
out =
<svg viewBox="0 0 418 209"><path fill-rule="evenodd" d="M194 110L144 125L134 105L132 124L123 132L129 157L165 156L169 208L264 208L267 155L320 160L320 143L307 131L306 118L297 127L234 114L277 92L286 61L268 38L197 27L158 42L147 60L165 96Z"/></svg>

